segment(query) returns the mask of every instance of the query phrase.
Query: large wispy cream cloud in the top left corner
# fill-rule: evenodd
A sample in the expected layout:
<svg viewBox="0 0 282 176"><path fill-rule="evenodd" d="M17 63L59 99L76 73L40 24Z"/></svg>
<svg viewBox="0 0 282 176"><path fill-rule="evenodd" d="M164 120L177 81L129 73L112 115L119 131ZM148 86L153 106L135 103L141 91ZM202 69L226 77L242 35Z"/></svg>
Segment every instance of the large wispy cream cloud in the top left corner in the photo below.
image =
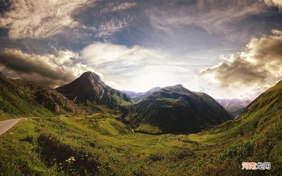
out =
<svg viewBox="0 0 282 176"><path fill-rule="evenodd" d="M0 27L9 30L9 38L46 38L63 28L75 27L72 16L92 6L93 1L11 1L1 14Z"/></svg>

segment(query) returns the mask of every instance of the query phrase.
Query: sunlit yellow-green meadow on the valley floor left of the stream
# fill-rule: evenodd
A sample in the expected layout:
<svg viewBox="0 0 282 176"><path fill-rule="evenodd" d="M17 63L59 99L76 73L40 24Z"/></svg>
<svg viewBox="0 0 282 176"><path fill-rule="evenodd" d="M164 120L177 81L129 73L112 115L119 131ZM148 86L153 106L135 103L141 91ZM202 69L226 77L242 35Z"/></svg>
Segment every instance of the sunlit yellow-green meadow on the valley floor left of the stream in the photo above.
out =
<svg viewBox="0 0 282 176"><path fill-rule="evenodd" d="M41 119L44 121L44 119ZM45 119L46 120L46 119ZM56 119L56 124L60 122ZM63 125L73 129L67 132L73 136L80 136L100 146L113 147L124 153L132 155L148 156L153 154L167 153L174 147L192 148L189 143L182 143L172 138L173 134L165 134L161 137L143 133L132 133L124 123L115 119L65 119ZM66 128L66 127L65 127ZM84 134L84 135L80 135ZM159 142L157 145L155 145ZM152 145L155 145L151 148Z"/></svg>

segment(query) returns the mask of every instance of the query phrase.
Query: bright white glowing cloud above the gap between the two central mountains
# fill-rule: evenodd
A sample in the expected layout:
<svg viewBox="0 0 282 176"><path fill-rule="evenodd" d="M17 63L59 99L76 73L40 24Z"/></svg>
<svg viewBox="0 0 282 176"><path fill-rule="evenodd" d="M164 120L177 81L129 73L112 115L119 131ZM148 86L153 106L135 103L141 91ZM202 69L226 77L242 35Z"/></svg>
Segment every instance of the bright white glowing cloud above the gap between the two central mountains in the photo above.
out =
<svg viewBox="0 0 282 176"><path fill-rule="evenodd" d="M138 45L127 47L98 42L84 48L82 56L96 71L102 72L105 79L114 81L106 84L137 92L187 82L191 86L187 73L197 67L189 65L189 61L179 62L162 50Z"/></svg>

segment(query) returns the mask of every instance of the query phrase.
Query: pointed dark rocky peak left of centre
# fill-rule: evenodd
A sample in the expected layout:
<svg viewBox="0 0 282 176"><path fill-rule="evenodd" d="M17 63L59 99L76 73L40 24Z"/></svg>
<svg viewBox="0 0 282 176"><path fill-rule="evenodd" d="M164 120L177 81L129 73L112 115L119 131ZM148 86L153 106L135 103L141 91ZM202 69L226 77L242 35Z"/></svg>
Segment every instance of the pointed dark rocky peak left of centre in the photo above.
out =
<svg viewBox="0 0 282 176"><path fill-rule="evenodd" d="M86 106L93 103L115 109L133 102L127 94L106 85L93 72L85 72L73 82L57 87L56 90L76 104L83 103Z"/></svg>

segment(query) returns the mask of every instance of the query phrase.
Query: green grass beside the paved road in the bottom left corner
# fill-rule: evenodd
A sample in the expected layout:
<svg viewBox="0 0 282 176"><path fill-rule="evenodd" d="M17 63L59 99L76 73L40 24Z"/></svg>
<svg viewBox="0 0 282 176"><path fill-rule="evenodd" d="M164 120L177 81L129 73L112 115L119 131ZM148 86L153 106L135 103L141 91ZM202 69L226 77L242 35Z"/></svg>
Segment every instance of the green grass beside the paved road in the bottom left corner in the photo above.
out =
<svg viewBox="0 0 282 176"><path fill-rule="evenodd" d="M34 128L32 120L21 120L0 137L0 175L57 174L56 167L47 167L42 156L36 152L38 147L30 140L31 136L36 136Z"/></svg>

